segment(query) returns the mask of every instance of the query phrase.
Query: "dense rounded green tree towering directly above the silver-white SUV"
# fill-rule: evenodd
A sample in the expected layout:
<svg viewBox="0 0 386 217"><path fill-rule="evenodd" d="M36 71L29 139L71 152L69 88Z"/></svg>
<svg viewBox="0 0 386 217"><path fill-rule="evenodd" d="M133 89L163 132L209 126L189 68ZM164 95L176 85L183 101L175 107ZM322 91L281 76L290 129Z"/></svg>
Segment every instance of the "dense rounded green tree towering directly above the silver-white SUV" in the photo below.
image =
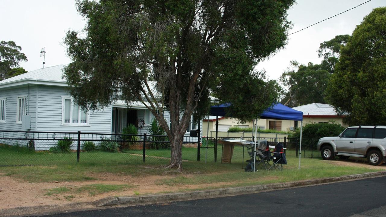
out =
<svg viewBox="0 0 386 217"><path fill-rule="evenodd" d="M340 51L328 100L346 122L386 123L386 7L364 17Z"/></svg>

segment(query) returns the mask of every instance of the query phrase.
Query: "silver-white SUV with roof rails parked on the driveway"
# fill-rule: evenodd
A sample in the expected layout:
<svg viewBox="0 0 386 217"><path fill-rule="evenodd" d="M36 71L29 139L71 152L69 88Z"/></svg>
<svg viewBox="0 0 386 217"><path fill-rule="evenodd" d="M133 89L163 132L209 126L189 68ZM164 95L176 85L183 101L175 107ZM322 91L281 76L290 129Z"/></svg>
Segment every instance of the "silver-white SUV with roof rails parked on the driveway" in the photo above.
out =
<svg viewBox="0 0 386 217"><path fill-rule="evenodd" d="M337 137L319 139L317 149L325 160L352 156L367 158L370 165L379 166L386 160L386 126L348 127Z"/></svg>

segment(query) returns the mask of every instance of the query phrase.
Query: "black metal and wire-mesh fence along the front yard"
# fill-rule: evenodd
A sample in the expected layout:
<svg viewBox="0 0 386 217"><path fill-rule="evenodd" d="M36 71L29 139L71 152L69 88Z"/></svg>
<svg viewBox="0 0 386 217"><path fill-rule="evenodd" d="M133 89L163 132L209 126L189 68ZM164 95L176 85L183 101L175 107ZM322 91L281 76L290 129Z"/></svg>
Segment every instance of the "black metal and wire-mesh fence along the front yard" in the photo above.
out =
<svg viewBox="0 0 386 217"><path fill-rule="evenodd" d="M223 137L218 137L222 139ZM240 139L230 138L230 139ZM254 141L254 137L244 140ZM298 156L299 141L294 138L257 138L281 142L288 154ZM303 139L302 156L317 157L315 139ZM0 131L0 166L49 165L82 163L135 164L170 160L167 136L125 135L87 132ZM185 136L183 161L222 162L223 146L215 138ZM235 146L232 162L245 162L249 155L245 146Z"/></svg>

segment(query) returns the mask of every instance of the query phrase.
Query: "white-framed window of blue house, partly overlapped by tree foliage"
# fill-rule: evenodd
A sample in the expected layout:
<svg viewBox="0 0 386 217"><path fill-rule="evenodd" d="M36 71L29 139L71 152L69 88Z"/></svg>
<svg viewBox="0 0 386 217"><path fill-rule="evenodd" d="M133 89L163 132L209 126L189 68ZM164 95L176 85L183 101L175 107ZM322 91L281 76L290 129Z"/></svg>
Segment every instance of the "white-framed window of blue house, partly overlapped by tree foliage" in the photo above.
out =
<svg viewBox="0 0 386 217"><path fill-rule="evenodd" d="M64 125L87 125L89 115L78 107L72 98L63 97L62 124Z"/></svg>

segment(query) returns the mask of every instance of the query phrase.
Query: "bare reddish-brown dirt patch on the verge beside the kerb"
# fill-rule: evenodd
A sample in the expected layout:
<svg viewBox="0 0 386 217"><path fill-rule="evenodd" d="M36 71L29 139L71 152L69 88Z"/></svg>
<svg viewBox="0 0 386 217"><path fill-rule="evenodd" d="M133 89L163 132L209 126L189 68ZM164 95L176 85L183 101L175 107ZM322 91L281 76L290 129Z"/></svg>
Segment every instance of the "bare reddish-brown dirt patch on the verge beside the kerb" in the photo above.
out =
<svg viewBox="0 0 386 217"><path fill-rule="evenodd" d="M130 196L163 192L179 192L186 191L186 189L198 189L216 186L220 187L232 184L229 182L219 182L205 185L160 185L160 179L176 177L176 175L168 174L165 174L163 176L146 177L127 176L113 173L98 173L88 175L97 178L97 180L30 183L28 181L19 180L11 176L4 176L0 174L0 198L2 198L2 203L0 203L0 210L15 207L31 207L38 205L64 205L74 202L90 202L109 196ZM184 174L184 176L189 178L196 176L196 174ZM132 186L132 188L126 188L125 190L120 190L118 192L100 193L97 195L90 195L90 193L88 192L76 192L76 189L81 186L93 184L128 184ZM47 195L48 190L52 188L67 188L69 191Z"/></svg>

